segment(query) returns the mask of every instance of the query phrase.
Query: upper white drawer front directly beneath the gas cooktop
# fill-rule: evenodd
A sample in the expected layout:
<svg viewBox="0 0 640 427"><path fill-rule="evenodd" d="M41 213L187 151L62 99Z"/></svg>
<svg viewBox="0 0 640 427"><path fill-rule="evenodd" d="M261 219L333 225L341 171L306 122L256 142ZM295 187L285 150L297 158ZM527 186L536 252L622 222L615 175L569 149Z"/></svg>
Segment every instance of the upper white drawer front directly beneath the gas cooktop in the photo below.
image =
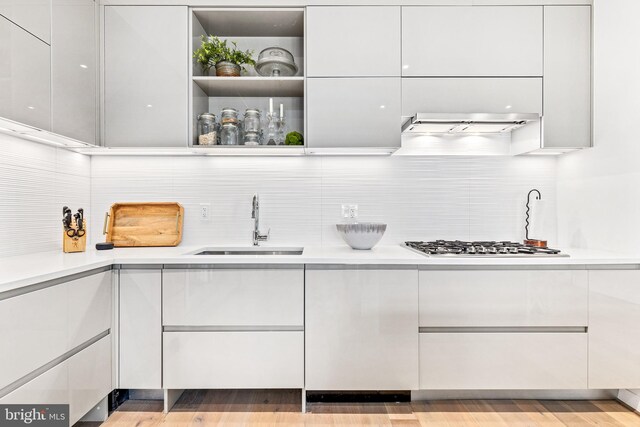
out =
<svg viewBox="0 0 640 427"><path fill-rule="evenodd" d="M421 271L420 326L587 326L586 271Z"/></svg>

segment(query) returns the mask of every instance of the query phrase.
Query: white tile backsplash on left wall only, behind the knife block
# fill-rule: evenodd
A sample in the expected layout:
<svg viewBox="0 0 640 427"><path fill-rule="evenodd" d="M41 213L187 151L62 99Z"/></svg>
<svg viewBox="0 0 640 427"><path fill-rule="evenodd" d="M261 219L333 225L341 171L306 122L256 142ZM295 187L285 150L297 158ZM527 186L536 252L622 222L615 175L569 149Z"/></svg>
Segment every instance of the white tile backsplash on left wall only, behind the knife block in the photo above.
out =
<svg viewBox="0 0 640 427"><path fill-rule="evenodd" d="M90 215L91 160L0 133L0 257L62 251L62 207Z"/></svg>

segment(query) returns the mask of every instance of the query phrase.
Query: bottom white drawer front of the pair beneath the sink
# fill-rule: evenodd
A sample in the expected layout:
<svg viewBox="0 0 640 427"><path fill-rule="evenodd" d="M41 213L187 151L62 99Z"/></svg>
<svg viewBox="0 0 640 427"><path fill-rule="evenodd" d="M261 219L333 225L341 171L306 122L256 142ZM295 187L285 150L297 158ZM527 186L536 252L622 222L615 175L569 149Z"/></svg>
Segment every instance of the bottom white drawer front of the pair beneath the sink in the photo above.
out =
<svg viewBox="0 0 640 427"><path fill-rule="evenodd" d="M303 388L304 332L165 332L164 388Z"/></svg>

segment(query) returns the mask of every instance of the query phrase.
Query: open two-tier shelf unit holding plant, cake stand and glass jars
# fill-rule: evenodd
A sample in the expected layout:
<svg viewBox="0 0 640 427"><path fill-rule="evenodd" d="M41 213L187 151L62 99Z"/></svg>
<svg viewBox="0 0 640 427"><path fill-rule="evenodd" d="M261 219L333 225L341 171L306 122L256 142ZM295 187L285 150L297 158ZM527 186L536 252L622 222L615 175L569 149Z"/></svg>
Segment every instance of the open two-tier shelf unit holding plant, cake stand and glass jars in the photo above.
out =
<svg viewBox="0 0 640 427"><path fill-rule="evenodd" d="M303 147L304 9L193 8L190 21L192 146Z"/></svg>

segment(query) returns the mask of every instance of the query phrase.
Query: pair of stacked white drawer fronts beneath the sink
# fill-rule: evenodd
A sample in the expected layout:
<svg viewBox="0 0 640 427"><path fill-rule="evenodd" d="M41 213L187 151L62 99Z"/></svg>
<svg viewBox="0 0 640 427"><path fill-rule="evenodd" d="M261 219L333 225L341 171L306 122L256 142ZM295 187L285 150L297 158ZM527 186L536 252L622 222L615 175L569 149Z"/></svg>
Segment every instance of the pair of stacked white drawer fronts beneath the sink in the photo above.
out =
<svg viewBox="0 0 640 427"><path fill-rule="evenodd" d="M304 269L163 271L163 387L303 388Z"/></svg>

